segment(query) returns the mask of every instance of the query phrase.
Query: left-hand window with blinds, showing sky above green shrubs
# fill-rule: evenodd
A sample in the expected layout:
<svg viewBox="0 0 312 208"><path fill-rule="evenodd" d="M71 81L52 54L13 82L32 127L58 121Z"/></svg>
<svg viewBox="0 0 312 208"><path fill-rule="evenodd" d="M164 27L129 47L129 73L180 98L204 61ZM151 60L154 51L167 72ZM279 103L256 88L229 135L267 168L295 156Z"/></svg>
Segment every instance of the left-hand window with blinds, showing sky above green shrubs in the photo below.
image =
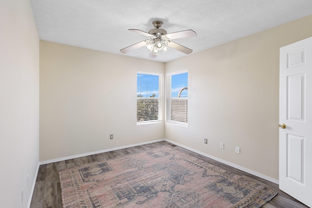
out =
<svg viewBox="0 0 312 208"><path fill-rule="evenodd" d="M137 73L137 124L162 120L162 76Z"/></svg>

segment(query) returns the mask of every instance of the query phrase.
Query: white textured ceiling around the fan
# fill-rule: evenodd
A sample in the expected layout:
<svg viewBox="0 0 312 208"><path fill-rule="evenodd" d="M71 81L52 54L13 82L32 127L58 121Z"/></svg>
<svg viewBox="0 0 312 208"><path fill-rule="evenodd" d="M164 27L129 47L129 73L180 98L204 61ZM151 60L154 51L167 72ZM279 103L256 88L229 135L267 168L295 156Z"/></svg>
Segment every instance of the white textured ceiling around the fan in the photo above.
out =
<svg viewBox="0 0 312 208"><path fill-rule="evenodd" d="M147 37L154 20L167 33L192 29L196 37L174 41L193 53L312 15L312 0L30 0L39 38L122 56L148 59L145 47L120 49ZM152 60L187 56L174 49Z"/></svg>

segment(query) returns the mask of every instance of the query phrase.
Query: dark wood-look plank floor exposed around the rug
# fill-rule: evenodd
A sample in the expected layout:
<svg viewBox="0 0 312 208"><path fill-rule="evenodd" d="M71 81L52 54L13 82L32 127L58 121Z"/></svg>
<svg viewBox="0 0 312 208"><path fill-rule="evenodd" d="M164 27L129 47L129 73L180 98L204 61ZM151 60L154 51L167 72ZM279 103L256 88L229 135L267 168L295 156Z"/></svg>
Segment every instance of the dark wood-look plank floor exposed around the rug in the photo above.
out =
<svg viewBox="0 0 312 208"><path fill-rule="evenodd" d="M263 208L308 208L304 204L300 203L296 199L292 198L285 192L278 189L278 185L272 182L269 182L267 180L254 176L252 174L246 173L242 170L237 170L233 167L217 162L213 159L207 158L193 151L189 151L179 146L173 145L166 141L141 145L137 147L125 148L125 149L116 150L116 151L109 151L109 152L104 152L100 154L94 154L90 156L50 163L46 165L40 165L30 207L31 208L62 208L61 190L60 190L60 183L59 183L59 170L61 169L66 169L66 168L71 168L71 167L86 164L86 163L106 160L106 159L114 158L120 155L134 153L137 151L150 150L150 149L161 147L164 145L183 151L185 153L192 154L193 156L201 158L202 160L205 160L213 165L219 166L225 170L230 170L236 174L243 175L246 178L254 180L257 183L263 184L268 188L278 191L278 194L270 202L265 204Z"/></svg>

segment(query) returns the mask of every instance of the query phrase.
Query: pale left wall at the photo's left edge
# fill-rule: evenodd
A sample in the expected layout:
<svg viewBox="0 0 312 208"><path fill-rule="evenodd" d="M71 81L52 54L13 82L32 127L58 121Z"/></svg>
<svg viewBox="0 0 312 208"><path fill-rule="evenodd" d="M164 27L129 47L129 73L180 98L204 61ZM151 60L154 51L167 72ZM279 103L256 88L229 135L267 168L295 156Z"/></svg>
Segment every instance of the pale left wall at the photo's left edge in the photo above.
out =
<svg viewBox="0 0 312 208"><path fill-rule="evenodd" d="M0 207L25 208L39 164L39 38L29 0L0 1L0 30Z"/></svg>

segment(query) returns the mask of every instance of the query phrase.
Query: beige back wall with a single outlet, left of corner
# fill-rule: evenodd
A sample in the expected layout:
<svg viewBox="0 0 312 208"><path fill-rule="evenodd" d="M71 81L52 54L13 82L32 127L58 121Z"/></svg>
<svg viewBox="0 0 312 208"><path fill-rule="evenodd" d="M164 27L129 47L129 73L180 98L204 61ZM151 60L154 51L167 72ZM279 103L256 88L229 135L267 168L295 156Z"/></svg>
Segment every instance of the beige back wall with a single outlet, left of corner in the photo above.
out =
<svg viewBox="0 0 312 208"><path fill-rule="evenodd" d="M137 71L164 63L40 41L40 161L164 138L137 126Z"/></svg>

